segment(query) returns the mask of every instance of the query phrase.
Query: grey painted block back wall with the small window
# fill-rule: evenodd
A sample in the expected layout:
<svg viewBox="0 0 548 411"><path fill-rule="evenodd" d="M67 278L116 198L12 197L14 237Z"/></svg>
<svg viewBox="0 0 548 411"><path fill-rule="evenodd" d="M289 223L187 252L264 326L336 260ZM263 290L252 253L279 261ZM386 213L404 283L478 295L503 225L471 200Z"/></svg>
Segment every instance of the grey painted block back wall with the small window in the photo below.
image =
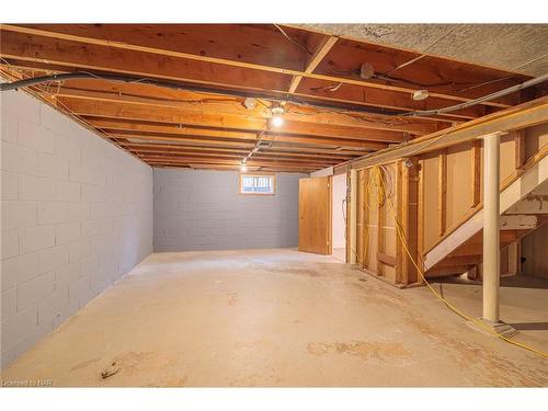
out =
<svg viewBox="0 0 548 411"><path fill-rule="evenodd" d="M238 194L233 171L155 169L155 251L297 247L299 179L276 195Z"/></svg>

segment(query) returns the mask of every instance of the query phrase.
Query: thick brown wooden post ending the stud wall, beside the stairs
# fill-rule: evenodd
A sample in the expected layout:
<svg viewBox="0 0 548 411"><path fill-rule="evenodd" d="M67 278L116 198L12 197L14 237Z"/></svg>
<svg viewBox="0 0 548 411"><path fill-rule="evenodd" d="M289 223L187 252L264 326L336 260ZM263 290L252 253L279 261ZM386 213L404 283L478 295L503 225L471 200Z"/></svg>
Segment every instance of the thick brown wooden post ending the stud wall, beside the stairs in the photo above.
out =
<svg viewBox="0 0 548 411"><path fill-rule="evenodd" d="M396 278L397 282L409 285L419 282L419 273L413 263L420 266L418 239L419 239L419 161L410 158L398 161L398 209L397 220L401 225L406 248L398 236L396 251ZM408 254L409 251L409 254ZM411 260L412 259L412 260Z"/></svg>

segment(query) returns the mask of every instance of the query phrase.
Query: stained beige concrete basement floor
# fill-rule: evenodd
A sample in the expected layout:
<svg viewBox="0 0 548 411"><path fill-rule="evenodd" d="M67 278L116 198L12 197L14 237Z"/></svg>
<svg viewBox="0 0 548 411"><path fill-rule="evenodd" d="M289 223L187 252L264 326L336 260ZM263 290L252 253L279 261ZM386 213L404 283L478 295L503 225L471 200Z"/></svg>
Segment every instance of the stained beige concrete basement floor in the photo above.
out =
<svg viewBox="0 0 548 411"><path fill-rule="evenodd" d="M520 279L523 282L523 279ZM528 284L528 283L527 283ZM520 341L548 351L548 282L502 288ZM439 287L436 284L436 287ZM443 284L479 316L481 286ZM121 370L107 379L112 362ZM14 362L54 386L547 386L548 361L295 250L156 253Z"/></svg>

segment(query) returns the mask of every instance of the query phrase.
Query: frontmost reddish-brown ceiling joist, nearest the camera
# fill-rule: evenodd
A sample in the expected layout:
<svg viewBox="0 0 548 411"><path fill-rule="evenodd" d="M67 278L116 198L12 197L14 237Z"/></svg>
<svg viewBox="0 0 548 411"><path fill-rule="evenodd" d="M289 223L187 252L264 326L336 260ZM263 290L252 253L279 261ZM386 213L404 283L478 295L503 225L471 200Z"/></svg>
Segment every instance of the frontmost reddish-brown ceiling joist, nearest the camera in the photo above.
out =
<svg viewBox="0 0 548 411"><path fill-rule="evenodd" d="M286 28L285 26L284 30L292 30L295 35L316 36L317 38L319 37L316 42L321 42L322 35L319 33L293 27ZM339 41L330 49L331 53L328 57L336 56L336 60L323 58L318 69L315 70L316 72L307 73L305 70L299 69L299 67L305 66L304 61L308 57L306 53L296 47L295 44L292 44L292 42L285 39L272 25L31 24L2 25L2 31L25 34L28 36L27 38L31 38L31 36L49 37L67 44L72 42L84 44L85 46L111 47L124 49L125 52L149 53L163 57L176 57L192 61L207 62L209 65L222 65L225 67L246 70L289 75L292 77L288 79L288 83L290 83L290 79L294 76L302 76L331 82L338 81L356 85L366 84L370 88L400 91L408 94L418 89L416 85L411 87L409 81L430 81L427 84L448 82L449 84L445 89L453 88L458 90L466 89L460 84L473 85L475 83L507 77L507 73L502 70L426 56L415 65L400 69L398 78L401 80L393 81L395 84L387 84L386 81L374 79L366 81L353 76L352 70L349 70L349 68L354 70L356 68L359 69L362 64L369 62L377 72L389 72L401 64L418 57L419 54L345 38ZM249 36L251 31L253 31L254 37ZM326 36L323 35L323 37ZM190 38L192 41L189 41ZM250 42L250 39L252 41ZM264 43L261 44L261 41ZM249 50L250 47L243 52L235 46L235 44L243 45L243 48L246 48L246 46L250 46L250 43L251 45L258 45L258 48L263 47L265 53L260 53L259 50L251 53ZM221 46L222 44L225 47ZM269 49L271 54L276 56L282 55L284 58L275 62L272 61L272 56L269 56L266 52ZM293 56L293 59L289 56ZM342 60L343 58L345 60ZM441 67L443 67L443 70L439 69ZM318 71L321 73L318 73ZM469 73L472 71L476 76L470 78ZM406 79L404 73L412 80ZM445 78L441 78L442 75ZM431 81L432 79L434 81ZM526 76L514 73L510 81L515 83L526 79ZM458 88L452 85L453 83L457 83ZM494 85L494 90L498 89L500 88ZM288 90L288 88L285 90ZM478 93L482 94L491 90L493 90L493 85L490 87L487 84L480 90L452 91L452 93L436 92L433 95L453 101L467 101L478 96ZM512 99L507 98L500 102L486 102L484 104L505 107L515 104L515 100Z"/></svg>

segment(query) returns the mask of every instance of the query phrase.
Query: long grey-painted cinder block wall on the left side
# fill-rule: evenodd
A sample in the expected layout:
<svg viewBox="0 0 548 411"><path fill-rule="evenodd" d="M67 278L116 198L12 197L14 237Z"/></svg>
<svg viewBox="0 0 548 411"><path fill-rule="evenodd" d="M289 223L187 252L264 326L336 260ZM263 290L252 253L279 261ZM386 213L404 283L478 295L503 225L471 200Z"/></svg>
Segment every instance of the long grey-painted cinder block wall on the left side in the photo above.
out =
<svg viewBox="0 0 548 411"><path fill-rule="evenodd" d="M152 252L152 169L23 92L1 104L1 357Z"/></svg>

